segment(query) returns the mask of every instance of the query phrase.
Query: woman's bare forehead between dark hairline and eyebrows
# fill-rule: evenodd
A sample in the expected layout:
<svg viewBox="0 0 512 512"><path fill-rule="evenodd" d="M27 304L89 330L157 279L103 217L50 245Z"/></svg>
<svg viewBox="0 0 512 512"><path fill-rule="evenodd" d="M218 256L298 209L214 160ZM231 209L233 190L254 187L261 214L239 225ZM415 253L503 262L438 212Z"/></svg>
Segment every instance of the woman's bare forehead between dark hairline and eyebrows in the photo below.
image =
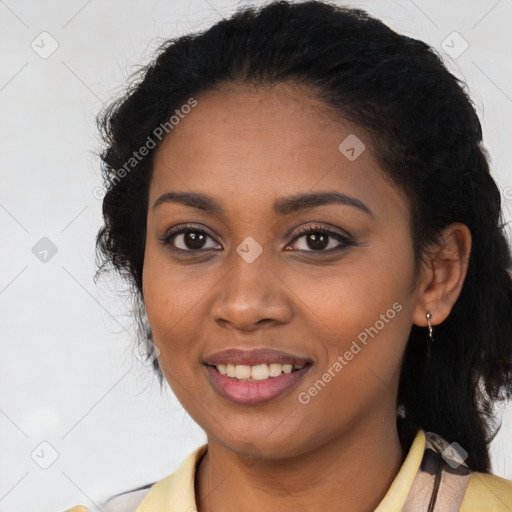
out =
<svg viewBox="0 0 512 512"><path fill-rule="evenodd" d="M150 204L168 190L246 206L317 188L364 196L365 202L383 193L400 200L364 130L331 115L312 91L230 86L196 99L155 155ZM355 159L340 150L347 140L362 150Z"/></svg>

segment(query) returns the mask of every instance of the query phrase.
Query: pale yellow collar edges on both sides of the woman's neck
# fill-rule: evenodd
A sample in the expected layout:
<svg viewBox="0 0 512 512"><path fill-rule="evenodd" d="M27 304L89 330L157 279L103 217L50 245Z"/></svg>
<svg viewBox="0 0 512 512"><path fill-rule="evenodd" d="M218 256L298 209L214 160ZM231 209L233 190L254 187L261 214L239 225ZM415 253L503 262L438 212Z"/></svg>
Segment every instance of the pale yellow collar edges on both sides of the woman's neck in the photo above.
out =
<svg viewBox="0 0 512 512"><path fill-rule="evenodd" d="M207 448L207 444L196 448L172 475L154 484L136 512L196 511L194 492L196 464ZM418 429L404 463L375 512L396 512L403 508L420 467L424 450L425 432Z"/></svg>

